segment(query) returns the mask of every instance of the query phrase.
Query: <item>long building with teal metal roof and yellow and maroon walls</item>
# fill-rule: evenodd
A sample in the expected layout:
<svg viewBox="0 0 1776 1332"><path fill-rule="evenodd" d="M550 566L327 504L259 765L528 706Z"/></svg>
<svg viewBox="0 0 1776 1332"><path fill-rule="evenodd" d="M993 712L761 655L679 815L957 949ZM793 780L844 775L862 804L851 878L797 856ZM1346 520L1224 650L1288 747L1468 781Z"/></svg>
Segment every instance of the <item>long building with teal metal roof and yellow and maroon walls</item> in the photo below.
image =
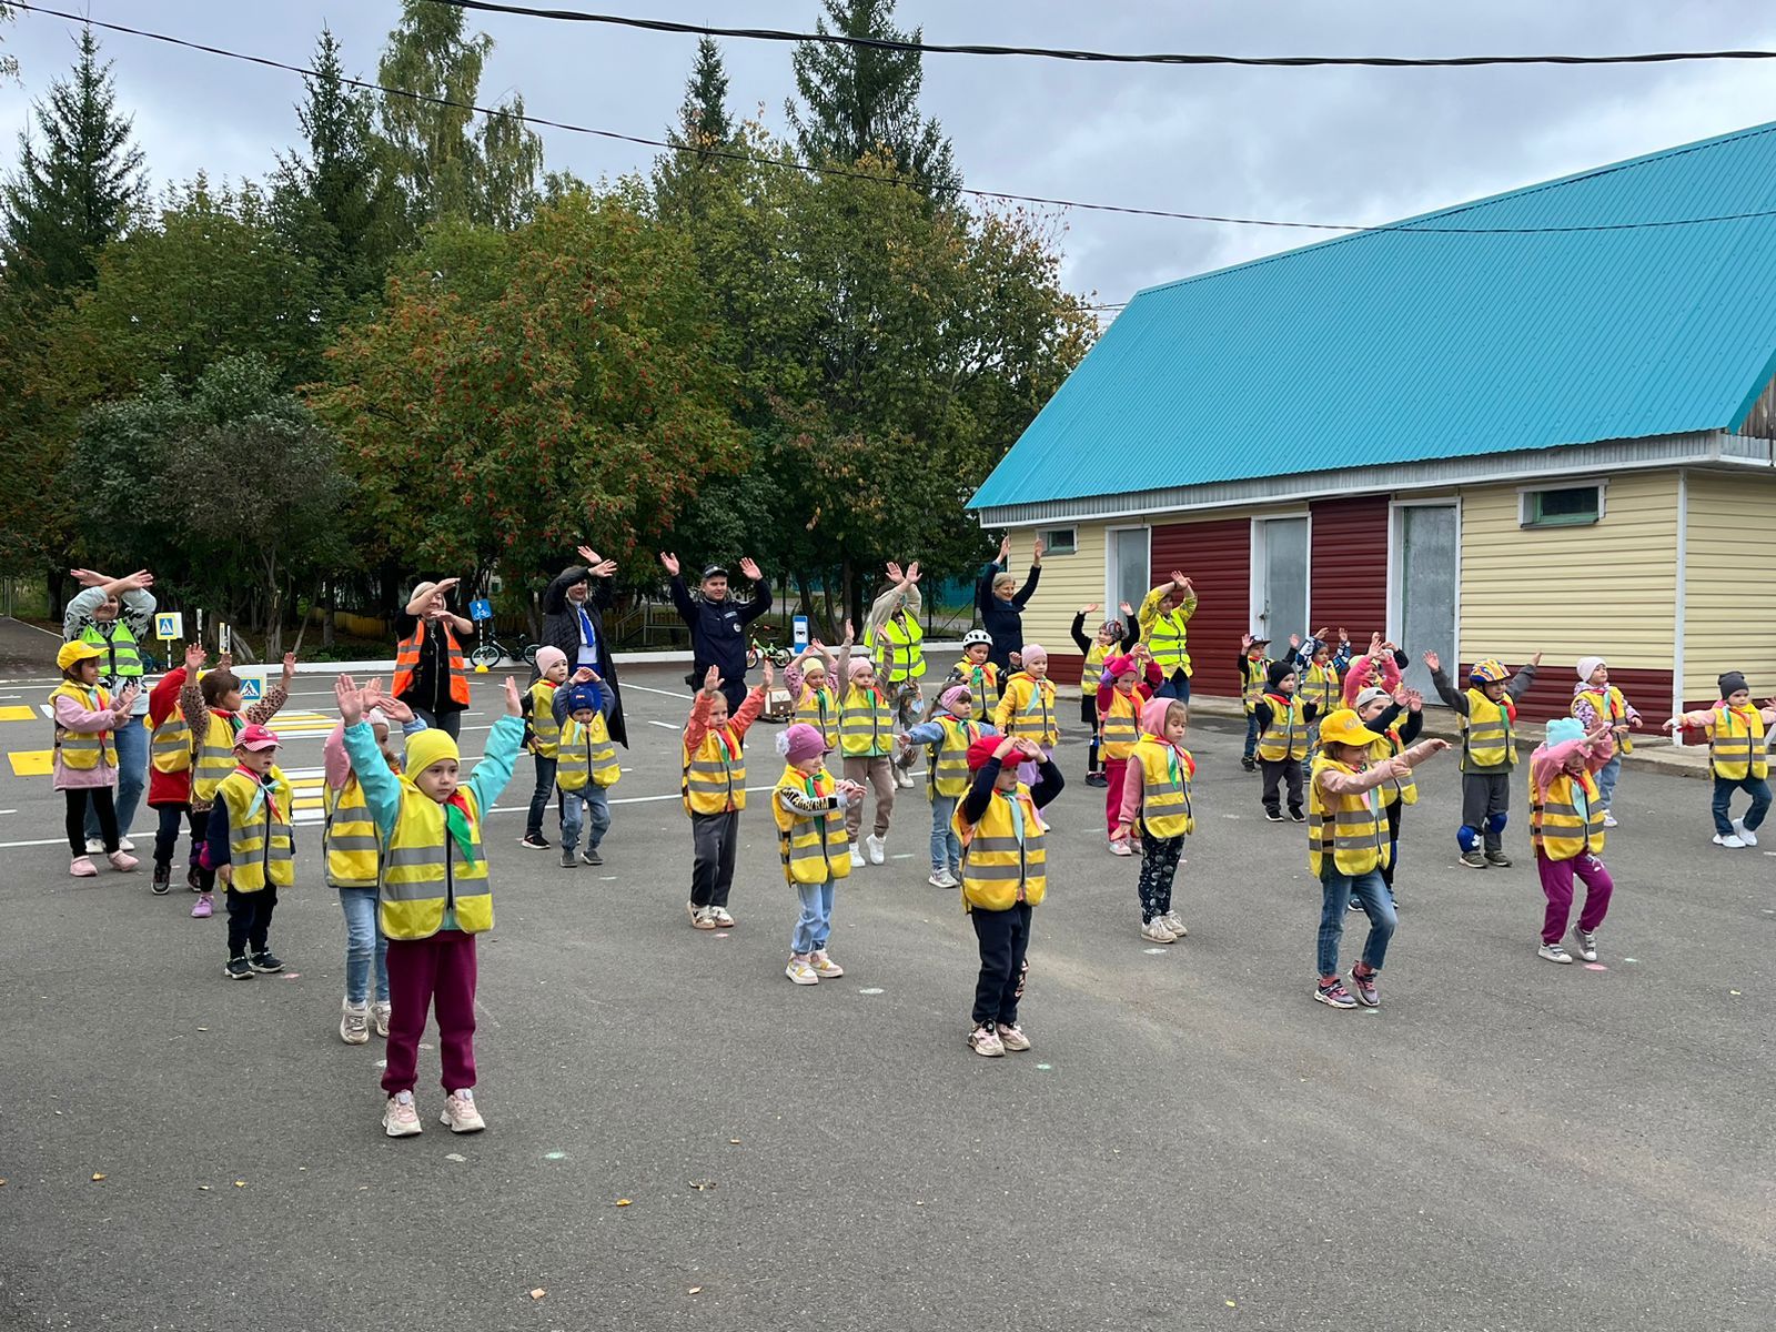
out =
<svg viewBox="0 0 1776 1332"><path fill-rule="evenodd" d="M1066 552L1048 638L1213 567L1217 693L1240 632L1339 618L1606 655L1652 710L1776 691L1776 595L1723 583L1776 567L1772 291L1764 124L1149 288L970 508Z"/></svg>

